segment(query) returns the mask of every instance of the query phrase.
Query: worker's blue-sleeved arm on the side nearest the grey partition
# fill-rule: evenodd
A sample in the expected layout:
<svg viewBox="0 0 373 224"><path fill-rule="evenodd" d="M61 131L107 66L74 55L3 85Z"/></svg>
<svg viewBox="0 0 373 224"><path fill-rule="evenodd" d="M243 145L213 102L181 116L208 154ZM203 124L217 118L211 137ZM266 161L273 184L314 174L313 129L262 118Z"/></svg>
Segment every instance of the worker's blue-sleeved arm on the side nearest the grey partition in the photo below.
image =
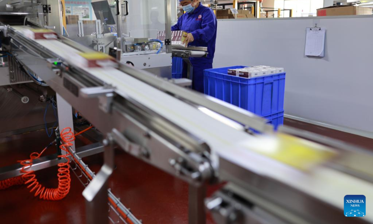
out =
<svg viewBox="0 0 373 224"><path fill-rule="evenodd" d="M191 32L193 35L194 40L209 42L211 38L215 34L216 30L216 19L213 12L209 11L203 14L202 18L202 29L196 29L195 31Z"/></svg>

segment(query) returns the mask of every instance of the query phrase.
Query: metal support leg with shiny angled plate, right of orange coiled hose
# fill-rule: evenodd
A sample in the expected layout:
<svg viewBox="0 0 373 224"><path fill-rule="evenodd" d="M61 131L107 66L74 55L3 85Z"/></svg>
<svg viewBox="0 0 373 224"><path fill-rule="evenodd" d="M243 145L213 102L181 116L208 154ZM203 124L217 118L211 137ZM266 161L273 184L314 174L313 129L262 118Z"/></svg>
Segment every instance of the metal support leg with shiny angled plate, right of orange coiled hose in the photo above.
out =
<svg viewBox="0 0 373 224"><path fill-rule="evenodd" d="M108 180L114 169L114 148L110 135L103 141L104 165L90 184L84 189L85 212L88 224L108 223L109 205L107 199Z"/></svg>

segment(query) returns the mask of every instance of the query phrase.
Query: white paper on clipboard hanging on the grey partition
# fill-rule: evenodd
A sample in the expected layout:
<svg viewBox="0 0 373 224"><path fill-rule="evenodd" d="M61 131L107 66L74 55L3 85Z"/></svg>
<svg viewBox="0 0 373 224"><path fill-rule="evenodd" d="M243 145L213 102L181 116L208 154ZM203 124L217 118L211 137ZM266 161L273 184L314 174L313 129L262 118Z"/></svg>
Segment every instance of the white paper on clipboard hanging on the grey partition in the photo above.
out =
<svg viewBox="0 0 373 224"><path fill-rule="evenodd" d="M305 56L324 57L325 29L307 28L305 40Z"/></svg>

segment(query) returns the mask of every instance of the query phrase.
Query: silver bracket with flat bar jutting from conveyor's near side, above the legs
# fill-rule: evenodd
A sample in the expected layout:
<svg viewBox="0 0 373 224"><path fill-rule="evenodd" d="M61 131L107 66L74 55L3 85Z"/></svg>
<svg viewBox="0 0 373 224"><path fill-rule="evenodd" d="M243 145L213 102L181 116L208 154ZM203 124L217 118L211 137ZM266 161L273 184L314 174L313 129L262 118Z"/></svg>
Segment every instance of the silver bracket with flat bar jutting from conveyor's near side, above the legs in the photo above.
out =
<svg viewBox="0 0 373 224"><path fill-rule="evenodd" d="M114 88L111 86L100 86L100 87L88 87L81 88L80 94L85 98L98 97L98 107L106 112L110 113L112 109L112 103L114 98Z"/></svg>

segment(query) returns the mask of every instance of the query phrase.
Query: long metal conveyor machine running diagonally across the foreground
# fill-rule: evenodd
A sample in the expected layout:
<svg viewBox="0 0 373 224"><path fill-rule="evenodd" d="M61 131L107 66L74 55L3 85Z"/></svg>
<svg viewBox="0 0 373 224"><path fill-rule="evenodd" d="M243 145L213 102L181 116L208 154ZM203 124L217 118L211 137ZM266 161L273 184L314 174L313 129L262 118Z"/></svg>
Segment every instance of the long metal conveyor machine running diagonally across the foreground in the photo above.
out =
<svg viewBox="0 0 373 224"><path fill-rule="evenodd" d="M189 184L189 223L205 223L208 211L225 224L344 224L351 223L344 214L345 195L373 197L372 153L364 149L293 128L275 133L253 113L55 31L4 23L0 31L8 70L0 76L9 80L16 68L21 77L48 85L38 88L47 88L46 96L56 94L58 130L74 127L74 108L104 136L84 148L71 142L66 152L71 169L81 169L85 178L87 223L114 223L109 207L123 223L140 223L107 188L115 146ZM104 152L104 165L94 174L81 158L98 152ZM29 169L60 162L65 161L57 156L38 158ZM0 180L21 175L20 169L2 168ZM222 181L228 184L206 198L206 186ZM369 202L366 208L373 211ZM373 223L373 218L353 221Z"/></svg>

